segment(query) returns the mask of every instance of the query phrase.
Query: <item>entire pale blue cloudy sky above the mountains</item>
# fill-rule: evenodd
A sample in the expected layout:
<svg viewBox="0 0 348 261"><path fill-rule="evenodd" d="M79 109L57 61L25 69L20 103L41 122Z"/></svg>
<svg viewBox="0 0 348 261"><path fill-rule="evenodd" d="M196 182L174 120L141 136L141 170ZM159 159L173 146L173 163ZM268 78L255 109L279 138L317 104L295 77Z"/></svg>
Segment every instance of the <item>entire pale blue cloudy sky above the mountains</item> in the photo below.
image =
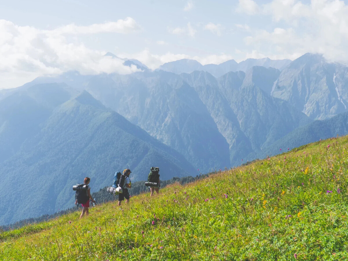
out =
<svg viewBox="0 0 348 261"><path fill-rule="evenodd" d="M129 74L183 58L220 64L307 52L348 63L348 0L0 2L0 89L42 75Z"/></svg>

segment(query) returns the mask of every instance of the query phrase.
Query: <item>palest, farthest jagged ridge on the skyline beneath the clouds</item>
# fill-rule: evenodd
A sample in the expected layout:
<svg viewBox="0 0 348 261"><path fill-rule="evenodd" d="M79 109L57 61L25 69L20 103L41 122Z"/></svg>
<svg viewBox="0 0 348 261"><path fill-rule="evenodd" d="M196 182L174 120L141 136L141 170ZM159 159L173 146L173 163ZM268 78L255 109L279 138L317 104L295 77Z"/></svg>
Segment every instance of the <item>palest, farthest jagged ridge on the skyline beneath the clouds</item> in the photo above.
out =
<svg viewBox="0 0 348 261"><path fill-rule="evenodd" d="M220 77L229 71L244 71L251 69L254 66L263 66L266 68L272 67L275 69L283 69L291 60L271 60L269 58L262 59L247 59L239 64L235 60L229 60L219 65L207 64L201 65L196 60L181 59L173 62L166 62L160 66L158 70L170 71L175 74L192 73L193 71L207 71L215 77Z"/></svg>

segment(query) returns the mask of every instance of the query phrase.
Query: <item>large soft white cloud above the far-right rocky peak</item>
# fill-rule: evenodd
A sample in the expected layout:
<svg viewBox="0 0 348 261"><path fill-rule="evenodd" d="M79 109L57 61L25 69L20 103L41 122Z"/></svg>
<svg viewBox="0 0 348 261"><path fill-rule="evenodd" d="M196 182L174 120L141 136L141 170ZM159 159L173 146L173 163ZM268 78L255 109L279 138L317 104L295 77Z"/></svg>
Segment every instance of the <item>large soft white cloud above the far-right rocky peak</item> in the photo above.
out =
<svg viewBox="0 0 348 261"><path fill-rule="evenodd" d="M295 59L312 52L348 63L348 5L344 1L273 0L261 11L281 26L251 30L251 36L244 39L248 48L273 59Z"/></svg>

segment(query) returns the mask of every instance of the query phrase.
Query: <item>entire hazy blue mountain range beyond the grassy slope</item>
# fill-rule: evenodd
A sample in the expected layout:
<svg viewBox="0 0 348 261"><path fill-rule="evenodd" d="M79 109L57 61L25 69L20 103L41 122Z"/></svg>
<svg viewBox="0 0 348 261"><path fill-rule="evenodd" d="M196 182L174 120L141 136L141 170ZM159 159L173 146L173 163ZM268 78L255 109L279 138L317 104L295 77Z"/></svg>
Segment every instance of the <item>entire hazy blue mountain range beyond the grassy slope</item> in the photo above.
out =
<svg viewBox="0 0 348 261"><path fill-rule="evenodd" d="M0 225L68 208L71 185L86 175L96 189L126 167L134 181L152 165L161 179L196 176L348 133L348 67L320 54L183 59L154 71L123 60L142 71L69 71L0 91L0 190L10 203ZM19 207L31 201L17 195L18 180L35 208Z"/></svg>

